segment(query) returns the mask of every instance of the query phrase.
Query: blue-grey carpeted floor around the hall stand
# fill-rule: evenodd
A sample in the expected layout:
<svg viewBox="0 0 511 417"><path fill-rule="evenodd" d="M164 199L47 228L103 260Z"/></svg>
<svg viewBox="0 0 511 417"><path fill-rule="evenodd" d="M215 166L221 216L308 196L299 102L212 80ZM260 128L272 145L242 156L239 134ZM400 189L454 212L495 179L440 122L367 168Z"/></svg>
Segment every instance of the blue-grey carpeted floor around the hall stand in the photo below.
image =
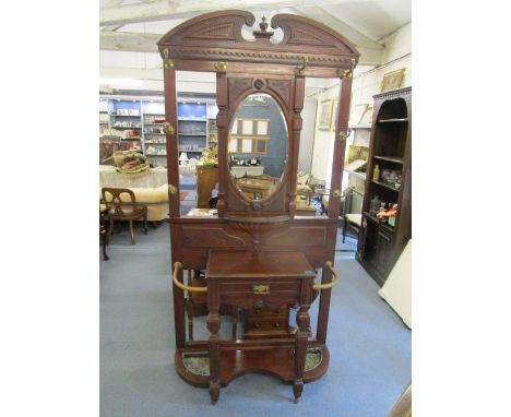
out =
<svg viewBox="0 0 511 417"><path fill-rule="evenodd" d="M337 242L344 251L335 259L341 282L332 291L328 373L306 384L298 404L292 386L247 374L212 406L207 390L174 370L168 225L147 236L139 226L135 246L126 228L112 235L110 260L100 261L100 415L384 417L411 381L411 331L353 259L355 240ZM311 314L316 323L317 305Z"/></svg>

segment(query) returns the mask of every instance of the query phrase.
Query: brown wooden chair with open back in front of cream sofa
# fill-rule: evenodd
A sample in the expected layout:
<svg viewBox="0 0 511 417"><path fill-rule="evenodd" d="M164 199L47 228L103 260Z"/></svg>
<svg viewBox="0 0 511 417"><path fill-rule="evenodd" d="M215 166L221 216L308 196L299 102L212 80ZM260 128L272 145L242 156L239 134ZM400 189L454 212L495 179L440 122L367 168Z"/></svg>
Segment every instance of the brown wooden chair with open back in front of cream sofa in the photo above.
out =
<svg viewBox="0 0 511 417"><path fill-rule="evenodd" d="M110 194L111 198L107 198ZM121 200L122 194L128 194L129 202ZM143 204L136 204L134 192L127 188L102 188L103 201L107 206L107 213L109 218L109 227L107 233L106 242L110 239L110 235L114 230L114 225L117 222L129 222L131 245L134 245L134 229L133 221L138 218L144 219L144 231L147 235L147 206Z"/></svg>

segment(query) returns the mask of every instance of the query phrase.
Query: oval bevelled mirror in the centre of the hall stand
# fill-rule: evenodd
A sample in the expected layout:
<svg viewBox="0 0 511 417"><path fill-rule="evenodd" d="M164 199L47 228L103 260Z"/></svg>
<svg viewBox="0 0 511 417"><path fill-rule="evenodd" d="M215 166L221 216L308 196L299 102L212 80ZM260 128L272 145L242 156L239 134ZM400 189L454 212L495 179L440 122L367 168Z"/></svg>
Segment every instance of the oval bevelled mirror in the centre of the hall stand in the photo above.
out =
<svg viewBox="0 0 511 417"><path fill-rule="evenodd" d="M264 200L283 180L288 152L287 124L269 94L248 95L230 121L227 160L230 178L248 200Z"/></svg>

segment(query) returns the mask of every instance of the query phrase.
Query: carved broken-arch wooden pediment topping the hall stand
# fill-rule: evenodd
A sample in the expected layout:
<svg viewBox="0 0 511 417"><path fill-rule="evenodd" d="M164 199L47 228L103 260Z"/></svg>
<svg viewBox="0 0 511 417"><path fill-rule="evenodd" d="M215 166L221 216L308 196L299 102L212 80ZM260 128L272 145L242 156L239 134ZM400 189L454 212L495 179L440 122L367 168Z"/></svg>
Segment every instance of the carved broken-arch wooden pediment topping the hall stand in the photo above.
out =
<svg viewBox="0 0 511 417"><path fill-rule="evenodd" d="M254 22L252 13L241 10L202 14L163 36L158 48L161 52L167 50L169 59L183 60L297 64L307 59L310 64L329 68L353 68L358 60L359 53L347 39L310 19L295 14L273 16L271 26L284 33L281 43L272 41L271 36L245 39L243 25L253 27ZM313 48L304 52L305 46Z"/></svg>

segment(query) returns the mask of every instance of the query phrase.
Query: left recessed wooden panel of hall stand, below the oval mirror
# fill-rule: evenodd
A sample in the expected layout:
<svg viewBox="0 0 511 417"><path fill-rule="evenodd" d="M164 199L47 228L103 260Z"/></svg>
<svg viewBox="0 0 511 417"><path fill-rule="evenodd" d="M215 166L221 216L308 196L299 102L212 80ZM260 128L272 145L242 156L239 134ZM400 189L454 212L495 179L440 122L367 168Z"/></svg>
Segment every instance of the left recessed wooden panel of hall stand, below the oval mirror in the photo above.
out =
<svg viewBox="0 0 511 417"><path fill-rule="evenodd" d="M185 248L245 248L243 239L227 234L222 227L182 227Z"/></svg>

